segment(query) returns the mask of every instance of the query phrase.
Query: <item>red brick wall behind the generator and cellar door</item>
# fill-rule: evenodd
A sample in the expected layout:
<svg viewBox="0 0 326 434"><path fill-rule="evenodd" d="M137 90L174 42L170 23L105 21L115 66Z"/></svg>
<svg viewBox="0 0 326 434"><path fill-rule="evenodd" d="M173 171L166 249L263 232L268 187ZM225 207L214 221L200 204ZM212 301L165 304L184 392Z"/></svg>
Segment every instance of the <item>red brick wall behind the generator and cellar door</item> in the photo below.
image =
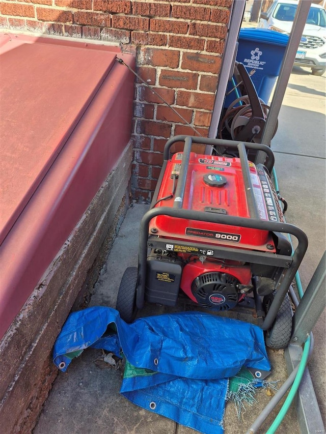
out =
<svg viewBox="0 0 326 434"><path fill-rule="evenodd" d="M0 0L0 27L120 44L137 72L207 136L232 0ZM194 131L141 81L135 85L135 199L149 201L166 140Z"/></svg>

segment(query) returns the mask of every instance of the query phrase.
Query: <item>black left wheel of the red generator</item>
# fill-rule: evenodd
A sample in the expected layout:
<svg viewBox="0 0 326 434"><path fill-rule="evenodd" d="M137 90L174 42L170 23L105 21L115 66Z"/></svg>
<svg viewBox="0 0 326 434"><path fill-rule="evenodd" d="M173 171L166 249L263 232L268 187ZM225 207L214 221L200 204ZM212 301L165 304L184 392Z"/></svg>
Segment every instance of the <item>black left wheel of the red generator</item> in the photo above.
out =
<svg viewBox="0 0 326 434"><path fill-rule="evenodd" d="M132 323L137 313L136 290L137 290L138 269L128 267L124 272L119 286L116 309L119 311L122 320Z"/></svg>

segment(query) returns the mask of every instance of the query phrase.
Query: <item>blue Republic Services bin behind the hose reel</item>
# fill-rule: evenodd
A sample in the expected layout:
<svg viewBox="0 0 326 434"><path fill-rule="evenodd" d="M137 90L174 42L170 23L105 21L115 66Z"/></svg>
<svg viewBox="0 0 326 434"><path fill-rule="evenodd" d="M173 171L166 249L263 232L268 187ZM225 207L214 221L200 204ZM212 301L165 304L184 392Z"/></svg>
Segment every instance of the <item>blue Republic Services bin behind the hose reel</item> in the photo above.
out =
<svg viewBox="0 0 326 434"><path fill-rule="evenodd" d="M282 60L289 36L266 28L242 28L238 38L237 62L242 63L248 72L255 69L251 79L259 98L266 104L280 73ZM228 91L233 85L230 82ZM236 99L232 92L225 100L228 107Z"/></svg>

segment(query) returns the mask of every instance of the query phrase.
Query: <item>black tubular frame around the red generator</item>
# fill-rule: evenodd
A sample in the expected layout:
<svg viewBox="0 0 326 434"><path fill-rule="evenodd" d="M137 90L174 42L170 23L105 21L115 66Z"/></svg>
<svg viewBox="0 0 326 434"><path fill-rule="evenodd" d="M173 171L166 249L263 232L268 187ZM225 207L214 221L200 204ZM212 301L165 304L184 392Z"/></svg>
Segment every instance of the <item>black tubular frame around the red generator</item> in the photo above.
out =
<svg viewBox="0 0 326 434"><path fill-rule="evenodd" d="M183 158L180 167L180 173L178 178L178 184L175 192L175 198L173 207L159 207L154 208L158 196L158 192L161 186L162 179L164 177L167 162L170 159L170 149L176 142L184 142ZM239 154L241 163L241 169L243 173L244 185L246 187L247 203L249 208L250 218L243 218L230 215L214 214L205 211L195 211L183 208L183 197L186 186L187 168L189 163L189 157L191 154L191 148L194 143L211 145L217 148L225 148L236 150ZM254 293L256 311L259 313L258 324L263 330L268 330L275 321L277 313L282 305L287 291L295 277L295 274L300 266L302 259L308 247L308 239L306 234L298 227L282 222L261 220L259 219L258 209L254 197L253 185L250 178L249 160L247 157L247 151L252 150L255 152L264 152L265 167L269 172L274 167L274 154L268 146L259 143L238 142L234 140L223 139L209 139L204 137L194 137L178 135L172 137L167 141L164 148L164 163L160 171L160 175L157 181L154 196L151 202L151 208L145 213L140 224L140 243L139 243L139 259L138 259L138 279L136 286L136 306L138 309L142 309L145 301L145 282L146 282L146 267L147 267L147 252L148 248L151 249L165 249L167 243L175 243L175 239L159 238L155 235L149 234L149 224L152 218L160 215L170 216L176 219L189 219L197 221L205 221L210 223L219 223L227 226L240 226L252 229L267 230L270 232L279 232L285 234L291 234L297 239L297 247L294 249L291 255L280 255L273 252L260 252L254 250L248 250L244 248L233 248L226 246L219 246L209 243L193 243L178 240L180 246L196 246L199 248L210 248L214 251L212 257L222 259L233 259L235 261L243 261L251 264L268 265L275 268L283 269L281 276L276 282L276 295L273 302L270 304L268 312L264 317L262 308L262 302L259 296Z"/></svg>

